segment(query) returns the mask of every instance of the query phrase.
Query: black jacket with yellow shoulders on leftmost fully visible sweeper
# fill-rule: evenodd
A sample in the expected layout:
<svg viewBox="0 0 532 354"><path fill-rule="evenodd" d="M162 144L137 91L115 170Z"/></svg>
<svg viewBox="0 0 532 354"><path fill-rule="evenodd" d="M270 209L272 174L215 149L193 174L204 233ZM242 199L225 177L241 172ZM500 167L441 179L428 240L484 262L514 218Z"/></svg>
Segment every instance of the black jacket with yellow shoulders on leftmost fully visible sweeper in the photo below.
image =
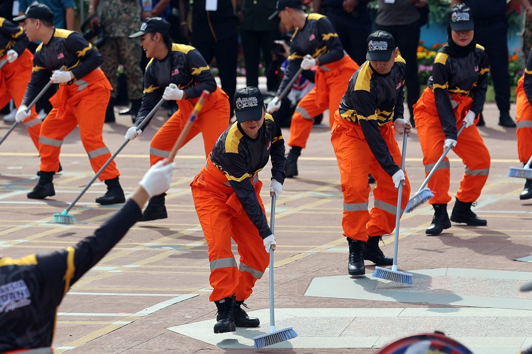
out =
<svg viewBox="0 0 532 354"><path fill-rule="evenodd" d="M81 37L81 34L56 28L48 43L46 45L41 43L35 51L31 80L22 103L29 105L48 83L52 72L59 70L63 65L66 66L66 70L72 71L76 80L79 80L102 63L103 57L92 44Z"/></svg>

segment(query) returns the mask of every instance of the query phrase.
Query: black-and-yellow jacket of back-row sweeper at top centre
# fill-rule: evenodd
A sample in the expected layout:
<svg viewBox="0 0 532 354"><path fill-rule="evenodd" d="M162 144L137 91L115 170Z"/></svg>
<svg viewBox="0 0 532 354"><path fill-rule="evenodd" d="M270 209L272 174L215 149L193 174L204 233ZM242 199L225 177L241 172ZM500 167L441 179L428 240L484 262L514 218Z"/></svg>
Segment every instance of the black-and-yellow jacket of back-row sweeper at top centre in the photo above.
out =
<svg viewBox="0 0 532 354"><path fill-rule="evenodd" d="M354 36L356 34L353 34ZM332 23L326 16L310 13L303 28L297 28L290 40L290 56L277 94L280 94L300 68L307 54L320 59L320 65L339 61L345 56L344 47Z"/></svg>

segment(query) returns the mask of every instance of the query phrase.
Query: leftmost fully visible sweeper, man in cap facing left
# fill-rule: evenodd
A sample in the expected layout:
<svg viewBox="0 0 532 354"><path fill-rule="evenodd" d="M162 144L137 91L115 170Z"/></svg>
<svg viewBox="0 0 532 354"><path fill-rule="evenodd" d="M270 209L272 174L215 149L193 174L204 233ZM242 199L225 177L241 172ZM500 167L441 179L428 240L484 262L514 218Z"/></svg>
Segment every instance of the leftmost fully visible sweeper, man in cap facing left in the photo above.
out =
<svg viewBox="0 0 532 354"><path fill-rule="evenodd" d="M35 51L31 80L16 112L16 121L22 122L31 115L28 105L48 82L59 84L59 90L50 99L53 109L40 128L39 182L27 194L30 199L55 195L52 180L59 170L61 145L76 126L79 126L81 141L94 172L111 158L102 139L105 109L111 95L111 85L99 68L103 58L78 32L55 28L53 16L48 6L36 4L14 19L24 21L24 32L30 41L41 41ZM111 161L99 175L107 192L97 197L96 203L126 201L119 176L115 162Z"/></svg>

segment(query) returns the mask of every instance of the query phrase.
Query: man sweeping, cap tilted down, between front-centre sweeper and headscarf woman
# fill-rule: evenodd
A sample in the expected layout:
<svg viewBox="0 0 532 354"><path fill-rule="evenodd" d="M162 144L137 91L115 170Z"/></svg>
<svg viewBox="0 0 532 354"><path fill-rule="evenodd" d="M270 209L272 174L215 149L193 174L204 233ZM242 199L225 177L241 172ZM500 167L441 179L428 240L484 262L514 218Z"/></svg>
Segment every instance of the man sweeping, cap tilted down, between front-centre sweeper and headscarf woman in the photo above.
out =
<svg viewBox="0 0 532 354"><path fill-rule="evenodd" d="M398 55L392 34L376 31L367 39L367 61L351 77L335 111L331 143L344 195L343 234L349 257L347 272L364 275L364 260L392 265L379 248L379 240L395 228L397 191L406 208L410 184L401 170L401 150L395 133L409 134L403 119L405 61ZM368 212L368 174L375 177L373 208Z"/></svg>

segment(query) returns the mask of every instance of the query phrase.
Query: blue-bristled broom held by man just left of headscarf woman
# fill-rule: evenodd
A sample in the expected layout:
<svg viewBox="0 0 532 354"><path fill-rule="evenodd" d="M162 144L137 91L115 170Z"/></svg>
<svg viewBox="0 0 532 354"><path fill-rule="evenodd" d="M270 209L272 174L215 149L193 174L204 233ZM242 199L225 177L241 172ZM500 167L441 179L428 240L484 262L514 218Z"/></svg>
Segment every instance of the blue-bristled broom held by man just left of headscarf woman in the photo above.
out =
<svg viewBox="0 0 532 354"><path fill-rule="evenodd" d="M401 169L403 171L404 171L407 137L408 137L408 134L404 134L403 156L401 157ZM402 193L403 193L403 184L399 183L399 188L397 188L397 211L395 213L394 263L392 265L392 269L387 269L383 267L375 267L375 271L373 271L373 277L412 285L414 283L412 274L397 270L397 251L398 251L398 244L399 244L399 223L401 220Z"/></svg>

